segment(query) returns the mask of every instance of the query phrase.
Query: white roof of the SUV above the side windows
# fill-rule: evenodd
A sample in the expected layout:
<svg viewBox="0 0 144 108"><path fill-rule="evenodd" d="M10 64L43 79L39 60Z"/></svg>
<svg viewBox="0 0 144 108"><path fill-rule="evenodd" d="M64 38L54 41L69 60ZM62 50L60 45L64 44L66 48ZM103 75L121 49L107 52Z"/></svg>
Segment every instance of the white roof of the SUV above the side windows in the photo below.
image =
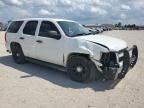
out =
<svg viewBox="0 0 144 108"><path fill-rule="evenodd" d="M25 19L14 19L12 21L22 21L22 20L48 20L48 21L71 21L71 22L75 22L72 20L68 20L68 19L56 19L56 18L25 18Z"/></svg>

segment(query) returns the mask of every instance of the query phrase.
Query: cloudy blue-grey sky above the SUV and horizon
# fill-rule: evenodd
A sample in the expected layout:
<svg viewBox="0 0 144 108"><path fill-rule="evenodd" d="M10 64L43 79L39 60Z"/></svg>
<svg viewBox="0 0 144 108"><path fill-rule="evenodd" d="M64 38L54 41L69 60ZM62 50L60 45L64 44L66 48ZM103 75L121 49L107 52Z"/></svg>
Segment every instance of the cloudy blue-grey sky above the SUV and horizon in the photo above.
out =
<svg viewBox="0 0 144 108"><path fill-rule="evenodd" d="M0 22L44 17L83 24L144 25L144 0L0 0Z"/></svg>

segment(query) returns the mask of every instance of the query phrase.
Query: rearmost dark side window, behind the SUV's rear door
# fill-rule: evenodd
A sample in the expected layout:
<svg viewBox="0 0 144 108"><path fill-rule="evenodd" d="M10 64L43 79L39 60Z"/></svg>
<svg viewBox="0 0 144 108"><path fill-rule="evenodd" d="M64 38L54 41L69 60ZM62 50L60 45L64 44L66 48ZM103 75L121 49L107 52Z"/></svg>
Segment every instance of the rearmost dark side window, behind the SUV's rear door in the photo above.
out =
<svg viewBox="0 0 144 108"><path fill-rule="evenodd" d="M14 21L10 24L8 31L9 33L17 33L18 30L20 29L23 21Z"/></svg>

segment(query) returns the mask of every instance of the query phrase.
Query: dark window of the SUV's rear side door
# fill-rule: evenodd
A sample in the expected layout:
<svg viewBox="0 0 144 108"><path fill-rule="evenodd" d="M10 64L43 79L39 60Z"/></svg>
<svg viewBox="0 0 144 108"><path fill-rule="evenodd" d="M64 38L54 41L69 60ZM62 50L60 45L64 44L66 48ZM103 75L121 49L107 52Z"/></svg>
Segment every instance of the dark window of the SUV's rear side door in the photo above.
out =
<svg viewBox="0 0 144 108"><path fill-rule="evenodd" d="M29 21L26 23L23 33L28 35L35 35L38 21Z"/></svg>

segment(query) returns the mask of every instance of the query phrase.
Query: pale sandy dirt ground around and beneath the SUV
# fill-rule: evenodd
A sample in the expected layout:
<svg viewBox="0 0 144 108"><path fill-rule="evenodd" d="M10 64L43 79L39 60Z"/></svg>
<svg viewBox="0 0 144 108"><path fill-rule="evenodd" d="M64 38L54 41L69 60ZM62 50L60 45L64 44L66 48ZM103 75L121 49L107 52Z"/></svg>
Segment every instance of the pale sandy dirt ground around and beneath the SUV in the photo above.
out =
<svg viewBox="0 0 144 108"><path fill-rule="evenodd" d="M121 81L81 84L56 69L15 64L0 32L0 108L144 108L144 31L103 34L137 44L138 63Z"/></svg>

